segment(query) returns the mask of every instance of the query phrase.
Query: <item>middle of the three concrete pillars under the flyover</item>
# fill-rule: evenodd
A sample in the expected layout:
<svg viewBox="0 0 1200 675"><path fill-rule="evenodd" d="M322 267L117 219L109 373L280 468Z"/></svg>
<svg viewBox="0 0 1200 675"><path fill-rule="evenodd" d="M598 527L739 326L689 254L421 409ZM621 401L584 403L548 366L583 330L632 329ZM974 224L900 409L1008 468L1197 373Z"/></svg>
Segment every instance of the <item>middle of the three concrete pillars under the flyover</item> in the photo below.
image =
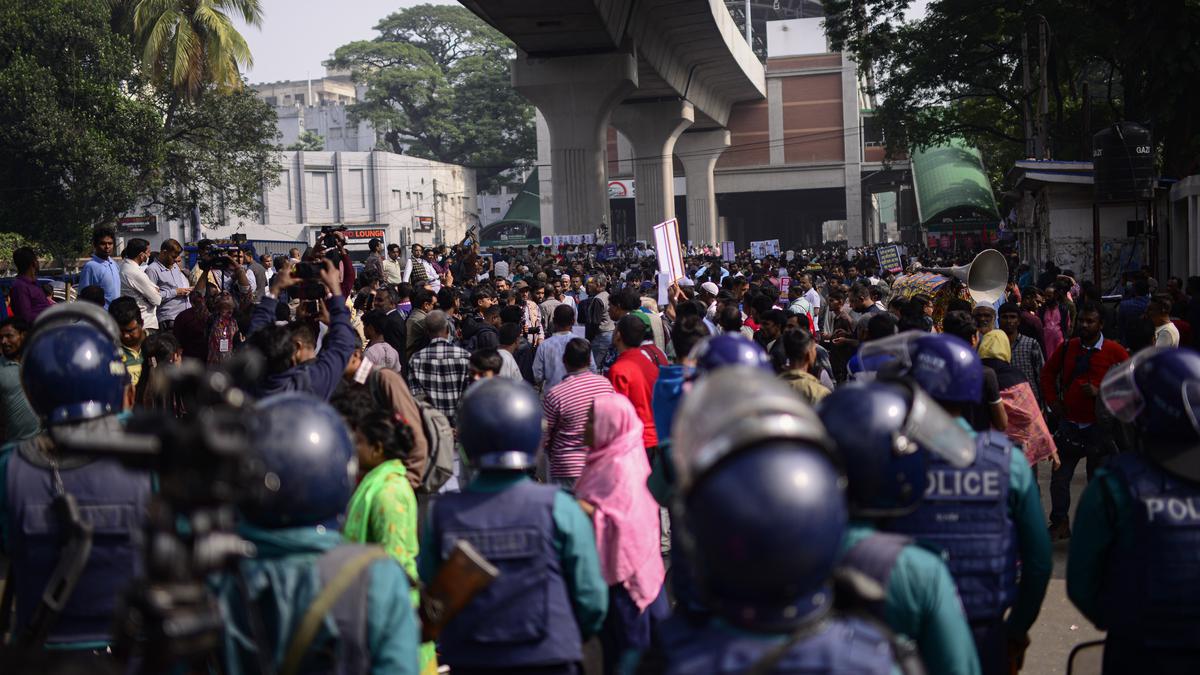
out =
<svg viewBox="0 0 1200 675"><path fill-rule="evenodd" d="M674 217L676 139L691 126L695 110L688 101L629 101L612 112L612 125L634 147L634 191L637 237L653 241L652 228Z"/></svg>

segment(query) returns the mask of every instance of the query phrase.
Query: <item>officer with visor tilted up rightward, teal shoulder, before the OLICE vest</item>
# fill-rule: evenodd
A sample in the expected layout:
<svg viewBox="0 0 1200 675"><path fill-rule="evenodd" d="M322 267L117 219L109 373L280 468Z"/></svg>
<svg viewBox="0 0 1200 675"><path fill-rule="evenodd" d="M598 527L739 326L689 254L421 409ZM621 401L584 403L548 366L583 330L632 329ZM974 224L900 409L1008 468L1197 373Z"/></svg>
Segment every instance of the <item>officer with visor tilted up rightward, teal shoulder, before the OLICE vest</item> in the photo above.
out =
<svg viewBox="0 0 1200 675"><path fill-rule="evenodd" d="M979 673L971 628L946 563L911 538L881 531L920 504L932 456L970 465L974 441L924 392L900 382L841 387L826 396L818 413L848 482L851 521L840 565L882 586L882 607L872 609L917 643L929 673Z"/></svg>

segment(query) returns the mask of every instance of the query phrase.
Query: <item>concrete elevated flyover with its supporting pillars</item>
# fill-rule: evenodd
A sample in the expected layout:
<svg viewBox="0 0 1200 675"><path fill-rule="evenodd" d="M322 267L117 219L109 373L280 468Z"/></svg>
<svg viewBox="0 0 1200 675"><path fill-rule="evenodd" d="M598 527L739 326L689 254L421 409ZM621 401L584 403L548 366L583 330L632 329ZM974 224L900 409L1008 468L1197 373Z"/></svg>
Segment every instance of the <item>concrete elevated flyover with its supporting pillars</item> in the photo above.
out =
<svg viewBox="0 0 1200 675"><path fill-rule="evenodd" d="M736 103L762 100L767 91L762 64L721 0L460 2L517 46L512 84L550 129L553 220L544 219L544 232L590 233L608 222L611 123L636 155L638 238L648 239L650 225L674 215L671 156L690 127L680 157L689 231L700 240L716 239L710 173L728 145L724 126ZM706 168L707 180L691 175Z"/></svg>

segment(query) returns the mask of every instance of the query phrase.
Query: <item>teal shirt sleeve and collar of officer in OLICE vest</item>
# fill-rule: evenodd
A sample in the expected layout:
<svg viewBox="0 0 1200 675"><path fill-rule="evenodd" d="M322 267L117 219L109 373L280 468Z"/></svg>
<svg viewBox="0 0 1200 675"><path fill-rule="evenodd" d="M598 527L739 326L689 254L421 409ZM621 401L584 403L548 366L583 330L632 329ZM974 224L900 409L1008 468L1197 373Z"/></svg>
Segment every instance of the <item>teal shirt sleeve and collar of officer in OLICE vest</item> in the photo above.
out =
<svg viewBox="0 0 1200 675"><path fill-rule="evenodd" d="M956 422L974 437L976 432L962 418ZM1009 453L1008 515L1013 519L1016 534L1016 552L1021 561L1021 577L1016 584L1016 599L1004 621L1010 638L1019 639L1033 626L1042 611L1054 558L1050 534L1046 532L1045 514L1042 510L1042 494L1033 470L1020 446L1014 443Z"/></svg>

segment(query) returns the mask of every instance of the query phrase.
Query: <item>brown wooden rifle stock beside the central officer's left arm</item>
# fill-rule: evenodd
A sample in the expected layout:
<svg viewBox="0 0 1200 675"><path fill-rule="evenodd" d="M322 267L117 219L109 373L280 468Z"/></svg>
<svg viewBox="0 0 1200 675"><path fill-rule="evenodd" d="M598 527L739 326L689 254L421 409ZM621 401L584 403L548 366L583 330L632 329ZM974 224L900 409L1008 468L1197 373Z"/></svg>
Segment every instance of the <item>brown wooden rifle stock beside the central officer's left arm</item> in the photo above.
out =
<svg viewBox="0 0 1200 675"><path fill-rule="evenodd" d="M446 623L499 575L475 546L466 539L455 542L438 575L421 589L421 641L437 640Z"/></svg>

